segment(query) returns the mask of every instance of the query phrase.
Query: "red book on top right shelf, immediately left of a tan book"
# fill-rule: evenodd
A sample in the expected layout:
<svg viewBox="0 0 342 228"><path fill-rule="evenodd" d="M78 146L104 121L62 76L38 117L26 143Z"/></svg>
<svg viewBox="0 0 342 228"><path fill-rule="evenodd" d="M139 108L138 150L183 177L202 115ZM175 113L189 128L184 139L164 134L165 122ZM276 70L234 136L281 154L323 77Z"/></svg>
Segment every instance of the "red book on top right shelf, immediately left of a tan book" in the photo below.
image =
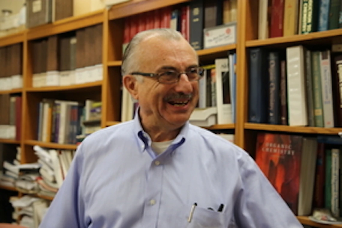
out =
<svg viewBox="0 0 342 228"><path fill-rule="evenodd" d="M269 37L282 37L284 23L284 0L272 0L271 28Z"/></svg>

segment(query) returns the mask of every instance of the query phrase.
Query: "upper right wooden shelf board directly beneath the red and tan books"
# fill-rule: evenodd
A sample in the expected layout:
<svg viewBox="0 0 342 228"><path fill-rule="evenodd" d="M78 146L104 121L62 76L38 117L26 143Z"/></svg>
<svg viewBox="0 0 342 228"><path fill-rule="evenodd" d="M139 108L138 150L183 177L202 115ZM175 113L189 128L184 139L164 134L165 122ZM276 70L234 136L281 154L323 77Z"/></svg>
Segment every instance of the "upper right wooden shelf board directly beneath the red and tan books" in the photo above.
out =
<svg viewBox="0 0 342 228"><path fill-rule="evenodd" d="M328 31L323 31L323 32L312 32L308 34L291 35L288 37L276 37L276 38L269 38L269 39L264 39L264 40L246 41L246 47L303 42L303 41L310 41L310 40L322 39L322 38L333 38L333 37L337 37L341 35L342 35L342 29L333 29L333 30L328 30Z"/></svg>

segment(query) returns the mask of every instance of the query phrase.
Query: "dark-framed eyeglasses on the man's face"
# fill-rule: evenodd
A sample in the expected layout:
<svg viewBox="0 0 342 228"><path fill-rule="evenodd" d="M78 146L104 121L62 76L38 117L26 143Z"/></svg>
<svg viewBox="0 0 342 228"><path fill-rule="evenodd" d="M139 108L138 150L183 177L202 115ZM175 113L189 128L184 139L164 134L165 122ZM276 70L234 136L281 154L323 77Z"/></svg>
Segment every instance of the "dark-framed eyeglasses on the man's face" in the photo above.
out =
<svg viewBox="0 0 342 228"><path fill-rule="evenodd" d="M146 77L155 77L161 84L173 84L178 83L182 74L186 74L190 82L198 81L202 78L204 69L201 67L192 67L184 72L176 70L163 70L159 73L142 73L132 72L131 75L142 75Z"/></svg>

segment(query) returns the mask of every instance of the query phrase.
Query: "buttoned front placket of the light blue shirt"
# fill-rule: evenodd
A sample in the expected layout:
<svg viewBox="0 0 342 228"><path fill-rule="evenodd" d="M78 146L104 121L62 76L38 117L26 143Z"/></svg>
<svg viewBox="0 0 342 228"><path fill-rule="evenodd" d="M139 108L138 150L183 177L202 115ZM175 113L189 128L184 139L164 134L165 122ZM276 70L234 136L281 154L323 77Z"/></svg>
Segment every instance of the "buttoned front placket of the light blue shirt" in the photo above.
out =
<svg viewBox="0 0 342 228"><path fill-rule="evenodd" d="M158 159L154 159L147 173L147 185L145 205L142 218L143 228L157 227L160 208L163 165Z"/></svg>

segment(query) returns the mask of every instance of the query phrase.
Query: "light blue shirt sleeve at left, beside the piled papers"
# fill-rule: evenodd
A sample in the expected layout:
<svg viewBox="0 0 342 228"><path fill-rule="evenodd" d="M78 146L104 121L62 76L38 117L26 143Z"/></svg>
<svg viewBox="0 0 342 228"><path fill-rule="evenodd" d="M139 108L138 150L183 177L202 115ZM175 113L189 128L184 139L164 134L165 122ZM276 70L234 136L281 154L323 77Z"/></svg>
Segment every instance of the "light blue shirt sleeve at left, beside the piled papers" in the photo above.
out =
<svg viewBox="0 0 342 228"><path fill-rule="evenodd" d="M82 143L83 144L83 143ZM82 144L78 146L61 188L54 197L39 228L85 228L84 203L80 197L80 175L83 167Z"/></svg>

